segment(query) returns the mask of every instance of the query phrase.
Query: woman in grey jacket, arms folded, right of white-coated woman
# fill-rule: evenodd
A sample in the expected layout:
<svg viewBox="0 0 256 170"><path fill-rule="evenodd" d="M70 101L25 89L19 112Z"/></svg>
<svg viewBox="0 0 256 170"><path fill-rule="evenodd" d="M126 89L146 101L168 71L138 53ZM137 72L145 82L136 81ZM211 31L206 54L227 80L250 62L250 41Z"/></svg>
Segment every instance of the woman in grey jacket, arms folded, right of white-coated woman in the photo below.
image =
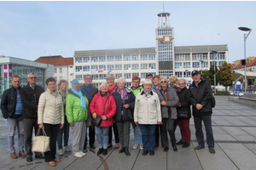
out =
<svg viewBox="0 0 256 170"><path fill-rule="evenodd" d="M161 139L165 145L164 151L169 150L168 135L171 137L172 147L174 151L177 151L176 139L174 133L174 122L177 119L178 97L176 91L173 88L168 87L168 80L166 77L160 78L160 90L156 92L160 99L162 122L161 127Z"/></svg>

